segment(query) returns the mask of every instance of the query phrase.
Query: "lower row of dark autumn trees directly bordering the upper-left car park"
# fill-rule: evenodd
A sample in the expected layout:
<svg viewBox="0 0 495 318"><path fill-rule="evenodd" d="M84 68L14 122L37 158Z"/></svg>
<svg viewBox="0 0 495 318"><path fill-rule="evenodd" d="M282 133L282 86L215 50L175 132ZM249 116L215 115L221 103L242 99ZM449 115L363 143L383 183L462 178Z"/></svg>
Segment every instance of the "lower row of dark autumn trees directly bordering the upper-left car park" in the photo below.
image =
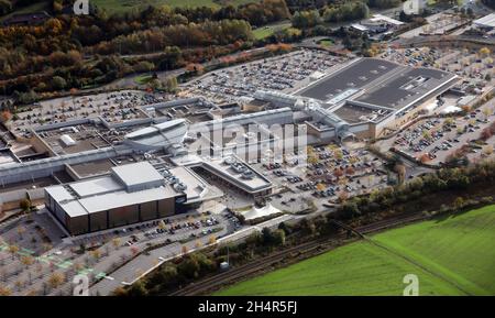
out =
<svg viewBox="0 0 495 318"><path fill-rule="evenodd" d="M46 57L22 59L19 69L22 68L26 75L0 80L0 91L1 87L4 87L6 92L13 94L20 103L31 103L46 91L103 85L135 73L176 69L188 63L201 63L241 47L239 43L184 50L167 46L153 56L122 58L118 55L106 55L97 56L88 64L84 63L77 52L55 52ZM1 52L0 48L0 59ZM40 72L31 72L32 69Z"/></svg>

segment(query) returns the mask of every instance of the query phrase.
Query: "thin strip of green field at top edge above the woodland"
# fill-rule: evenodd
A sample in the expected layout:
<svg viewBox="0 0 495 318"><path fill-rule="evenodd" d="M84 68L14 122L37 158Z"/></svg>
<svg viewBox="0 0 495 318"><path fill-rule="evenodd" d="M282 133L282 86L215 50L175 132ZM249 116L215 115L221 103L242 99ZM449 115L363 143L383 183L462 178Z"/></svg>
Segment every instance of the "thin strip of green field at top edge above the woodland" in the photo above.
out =
<svg viewBox="0 0 495 318"><path fill-rule="evenodd" d="M142 10L147 6L169 7L211 7L220 8L222 4L239 6L256 0L91 0L98 8L106 10L108 13L124 13L132 10Z"/></svg>

